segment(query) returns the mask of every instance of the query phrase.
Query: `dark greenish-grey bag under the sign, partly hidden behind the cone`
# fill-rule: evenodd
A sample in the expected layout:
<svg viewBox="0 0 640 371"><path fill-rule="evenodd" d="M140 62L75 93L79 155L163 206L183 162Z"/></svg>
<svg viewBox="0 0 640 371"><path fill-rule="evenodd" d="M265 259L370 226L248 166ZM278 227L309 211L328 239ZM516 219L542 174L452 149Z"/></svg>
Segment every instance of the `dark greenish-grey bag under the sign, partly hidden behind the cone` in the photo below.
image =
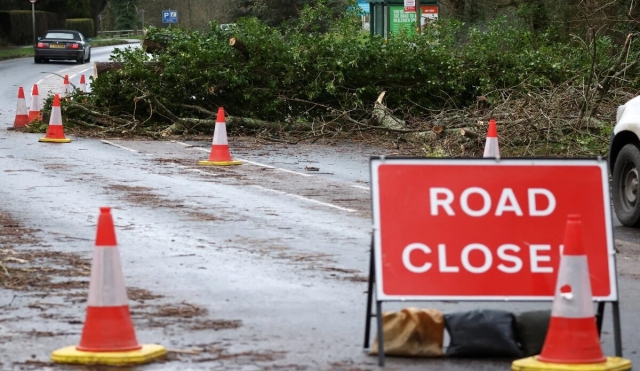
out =
<svg viewBox="0 0 640 371"><path fill-rule="evenodd" d="M522 312L515 315L516 338L525 357L540 354L544 346L544 339L547 337L549 321L551 320L551 310L534 310Z"/></svg>

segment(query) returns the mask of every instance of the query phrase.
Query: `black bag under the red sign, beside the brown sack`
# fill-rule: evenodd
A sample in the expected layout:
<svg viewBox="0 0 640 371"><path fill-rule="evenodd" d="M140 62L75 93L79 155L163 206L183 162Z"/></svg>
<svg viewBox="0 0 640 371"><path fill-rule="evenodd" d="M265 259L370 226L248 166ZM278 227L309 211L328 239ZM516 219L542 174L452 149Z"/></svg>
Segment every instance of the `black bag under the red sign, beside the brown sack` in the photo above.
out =
<svg viewBox="0 0 640 371"><path fill-rule="evenodd" d="M521 358L511 312L482 309L444 316L450 357Z"/></svg>

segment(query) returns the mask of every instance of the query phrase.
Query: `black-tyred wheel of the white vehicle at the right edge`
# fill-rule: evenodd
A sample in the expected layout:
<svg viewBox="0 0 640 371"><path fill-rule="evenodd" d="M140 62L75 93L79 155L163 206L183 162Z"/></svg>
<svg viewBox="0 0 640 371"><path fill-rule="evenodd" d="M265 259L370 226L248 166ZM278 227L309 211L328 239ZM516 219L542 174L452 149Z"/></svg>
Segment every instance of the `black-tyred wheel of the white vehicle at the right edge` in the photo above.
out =
<svg viewBox="0 0 640 371"><path fill-rule="evenodd" d="M613 207L624 226L640 226L639 190L640 149L635 144L627 144L618 153L613 167Z"/></svg>

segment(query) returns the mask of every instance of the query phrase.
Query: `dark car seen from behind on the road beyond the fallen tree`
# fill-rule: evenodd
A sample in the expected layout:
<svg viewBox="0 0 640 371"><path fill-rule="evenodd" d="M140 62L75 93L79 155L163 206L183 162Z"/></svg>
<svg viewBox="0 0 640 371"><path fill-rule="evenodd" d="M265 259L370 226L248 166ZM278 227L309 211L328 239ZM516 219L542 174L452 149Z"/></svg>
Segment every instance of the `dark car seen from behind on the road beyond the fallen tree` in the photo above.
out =
<svg viewBox="0 0 640 371"><path fill-rule="evenodd" d="M51 59L74 60L77 63L91 61L91 39L85 39L78 31L49 30L38 38L35 45L34 62L43 63Z"/></svg>

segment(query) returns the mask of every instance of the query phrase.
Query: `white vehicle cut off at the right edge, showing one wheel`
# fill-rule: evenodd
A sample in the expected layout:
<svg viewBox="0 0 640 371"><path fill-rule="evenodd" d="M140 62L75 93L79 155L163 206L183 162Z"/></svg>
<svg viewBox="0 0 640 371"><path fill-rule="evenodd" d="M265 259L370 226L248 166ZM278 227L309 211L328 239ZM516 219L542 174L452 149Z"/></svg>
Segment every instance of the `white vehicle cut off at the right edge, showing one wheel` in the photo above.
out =
<svg viewBox="0 0 640 371"><path fill-rule="evenodd" d="M618 220L640 227L640 96L618 107L609 147L612 198Z"/></svg>

